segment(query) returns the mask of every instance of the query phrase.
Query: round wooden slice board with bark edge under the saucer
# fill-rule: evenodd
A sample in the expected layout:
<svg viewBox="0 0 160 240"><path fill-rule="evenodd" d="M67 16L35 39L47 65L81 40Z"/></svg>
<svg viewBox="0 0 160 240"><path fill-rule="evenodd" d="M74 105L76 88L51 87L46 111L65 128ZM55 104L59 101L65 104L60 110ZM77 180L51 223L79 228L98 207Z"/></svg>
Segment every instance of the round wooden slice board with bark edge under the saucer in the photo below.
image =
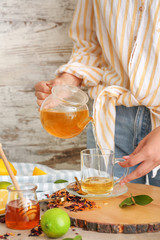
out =
<svg viewBox="0 0 160 240"><path fill-rule="evenodd" d="M132 205L120 208L119 204L132 193L146 194L153 202L146 206ZM93 200L98 208L88 211L71 212L63 208L71 218L71 224L89 231L106 233L144 233L160 231L160 188L143 184L128 184L124 195ZM91 200L91 199L90 199Z"/></svg>

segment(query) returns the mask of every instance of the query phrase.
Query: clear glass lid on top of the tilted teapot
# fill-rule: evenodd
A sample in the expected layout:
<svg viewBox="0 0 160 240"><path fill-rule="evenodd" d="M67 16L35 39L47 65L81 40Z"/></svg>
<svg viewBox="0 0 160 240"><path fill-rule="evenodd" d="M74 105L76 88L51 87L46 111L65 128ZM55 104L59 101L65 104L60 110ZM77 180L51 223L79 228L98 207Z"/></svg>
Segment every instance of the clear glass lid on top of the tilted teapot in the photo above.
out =
<svg viewBox="0 0 160 240"><path fill-rule="evenodd" d="M65 104L82 106L88 102L88 95L79 87L70 85L58 85L52 88L52 94L56 95Z"/></svg>

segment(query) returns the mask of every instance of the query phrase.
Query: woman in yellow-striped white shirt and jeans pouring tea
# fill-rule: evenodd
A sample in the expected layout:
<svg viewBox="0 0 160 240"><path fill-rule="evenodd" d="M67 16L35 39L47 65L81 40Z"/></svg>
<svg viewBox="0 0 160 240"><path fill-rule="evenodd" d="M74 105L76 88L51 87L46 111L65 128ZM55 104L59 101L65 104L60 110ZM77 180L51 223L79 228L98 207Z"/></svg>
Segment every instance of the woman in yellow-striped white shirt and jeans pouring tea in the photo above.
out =
<svg viewBox="0 0 160 240"><path fill-rule="evenodd" d="M70 37L69 62L35 86L38 104L54 85L88 87L98 145L130 167L121 184L146 183L148 173L159 186L160 1L79 0Z"/></svg>

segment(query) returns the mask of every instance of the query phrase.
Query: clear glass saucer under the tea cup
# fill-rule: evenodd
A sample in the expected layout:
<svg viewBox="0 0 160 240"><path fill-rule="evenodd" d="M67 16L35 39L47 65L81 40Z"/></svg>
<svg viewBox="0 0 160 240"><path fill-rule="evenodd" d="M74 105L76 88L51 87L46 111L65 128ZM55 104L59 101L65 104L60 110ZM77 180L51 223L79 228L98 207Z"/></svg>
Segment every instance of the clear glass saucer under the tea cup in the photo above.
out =
<svg viewBox="0 0 160 240"><path fill-rule="evenodd" d="M71 193L72 195L78 196L78 197L82 197L82 198L94 198L94 199L104 199L104 198L111 198L111 197L117 197L120 195L125 194L126 192L128 192L128 187L126 185L121 186L119 183L117 183L114 187L113 187L113 191L111 193L107 193L107 194L86 194L86 195L82 195L79 194L77 191L78 189L76 188L76 182L70 183L66 186L66 190Z"/></svg>

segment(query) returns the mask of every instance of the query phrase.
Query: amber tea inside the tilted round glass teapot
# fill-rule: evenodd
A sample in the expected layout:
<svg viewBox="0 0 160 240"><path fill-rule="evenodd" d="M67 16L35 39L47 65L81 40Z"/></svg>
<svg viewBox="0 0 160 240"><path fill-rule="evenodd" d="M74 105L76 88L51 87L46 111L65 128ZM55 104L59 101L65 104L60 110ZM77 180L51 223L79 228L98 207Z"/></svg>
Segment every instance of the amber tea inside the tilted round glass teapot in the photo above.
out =
<svg viewBox="0 0 160 240"><path fill-rule="evenodd" d="M58 138L72 138L80 134L91 121L88 109L70 112L42 110L40 119L44 129Z"/></svg>

